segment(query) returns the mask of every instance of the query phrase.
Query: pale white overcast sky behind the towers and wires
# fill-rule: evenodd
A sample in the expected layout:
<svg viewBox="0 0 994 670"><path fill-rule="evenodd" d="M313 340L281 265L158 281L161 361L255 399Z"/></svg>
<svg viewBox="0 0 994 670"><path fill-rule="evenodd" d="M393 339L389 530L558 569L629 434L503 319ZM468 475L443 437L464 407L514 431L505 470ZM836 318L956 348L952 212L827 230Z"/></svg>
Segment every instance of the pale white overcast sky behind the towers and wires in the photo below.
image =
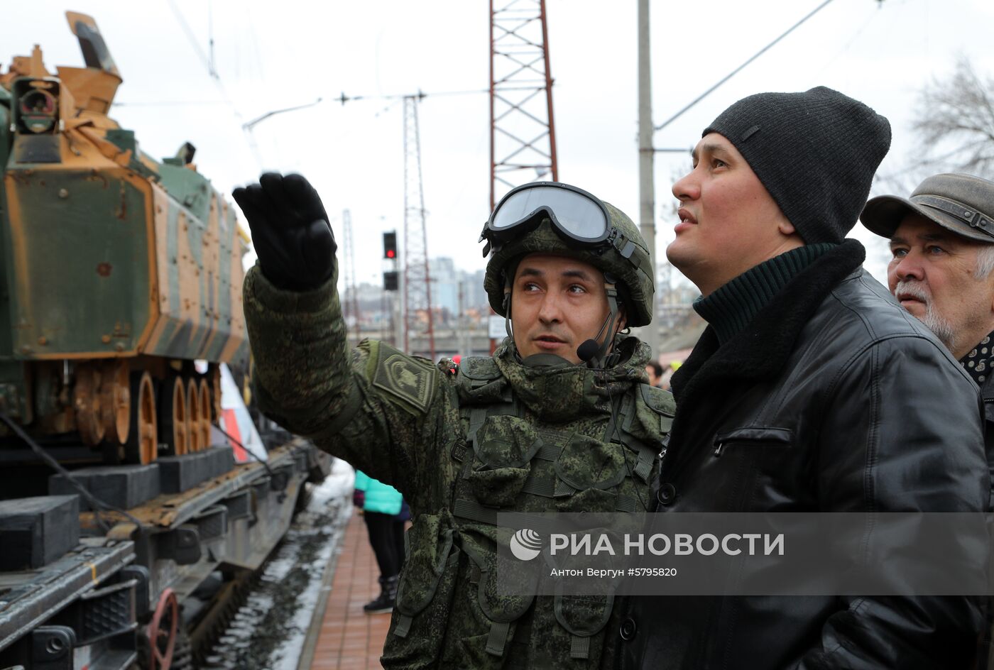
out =
<svg viewBox="0 0 994 670"><path fill-rule="evenodd" d="M500 6L503 0L495 0ZM716 83L822 0L651 3L653 116L658 124ZM620 207L637 222L636 3L547 0L559 177ZM404 225L403 103L370 97L427 93L419 106L428 252L482 268L476 241L489 209L488 3L485 0L50 0L5 3L4 71L40 44L50 70L83 58L64 17L92 15L124 79L112 110L152 156L184 142L217 188L260 169L296 171L321 193L339 231L352 214L360 281L380 282L381 233ZM960 56L994 74L990 0L834 0L655 136L693 146L735 100L761 90L829 85L891 119L881 168L902 171L920 152L909 129L919 88L947 77ZM219 75L208 73L209 43ZM324 101L242 129L273 109ZM804 156L792 157L803 173ZM261 162L261 164L260 164ZM656 161L657 249L673 238L670 186L683 155ZM903 194L907 195L907 194ZM860 226L868 267L882 278L886 251Z"/></svg>

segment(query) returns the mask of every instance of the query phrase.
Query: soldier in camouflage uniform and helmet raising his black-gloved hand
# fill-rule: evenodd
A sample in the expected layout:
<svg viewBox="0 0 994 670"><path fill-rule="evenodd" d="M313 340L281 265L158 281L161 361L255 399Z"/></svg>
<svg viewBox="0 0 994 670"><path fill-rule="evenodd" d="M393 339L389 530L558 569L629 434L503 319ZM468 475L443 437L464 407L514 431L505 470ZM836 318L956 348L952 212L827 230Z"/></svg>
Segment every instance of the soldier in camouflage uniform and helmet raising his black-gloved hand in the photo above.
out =
<svg viewBox="0 0 994 670"><path fill-rule="evenodd" d="M611 597L496 593L498 511L643 511L673 416L647 384L649 254L632 222L558 183L508 194L484 229L485 288L508 321L492 358L434 366L348 350L336 246L297 175L235 191L258 264L245 283L260 408L410 501L388 668L595 668ZM506 529L505 529L506 530ZM502 540L501 540L502 541Z"/></svg>

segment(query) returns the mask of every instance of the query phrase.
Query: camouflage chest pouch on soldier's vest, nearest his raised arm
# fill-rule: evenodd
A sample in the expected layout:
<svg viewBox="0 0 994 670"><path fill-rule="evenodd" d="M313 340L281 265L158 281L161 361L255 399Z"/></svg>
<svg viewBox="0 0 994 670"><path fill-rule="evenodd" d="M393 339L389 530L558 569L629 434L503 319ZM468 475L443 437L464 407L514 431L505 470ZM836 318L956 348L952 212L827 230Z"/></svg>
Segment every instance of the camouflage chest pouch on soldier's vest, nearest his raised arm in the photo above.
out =
<svg viewBox="0 0 994 670"><path fill-rule="evenodd" d="M482 505L514 503L532 471L530 461L542 446L535 427L517 417L487 417L476 432L473 462L465 479Z"/></svg>

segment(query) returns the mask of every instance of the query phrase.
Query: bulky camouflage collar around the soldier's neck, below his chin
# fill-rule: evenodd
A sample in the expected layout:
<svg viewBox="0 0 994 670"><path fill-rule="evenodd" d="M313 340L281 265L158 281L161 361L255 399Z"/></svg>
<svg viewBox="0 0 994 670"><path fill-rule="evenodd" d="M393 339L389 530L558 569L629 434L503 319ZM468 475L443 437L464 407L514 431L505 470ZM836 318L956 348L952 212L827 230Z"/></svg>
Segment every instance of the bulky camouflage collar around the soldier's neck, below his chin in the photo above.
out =
<svg viewBox="0 0 994 670"><path fill-rule="evenodd" d="M608 414L608 397L621 397L645 375L649 346L635 337L619 335L614 350L621 362L607 370L584 365L523 365L510 338L494 352L494 362L515 395L545 421L568 421L591 414Z"/></svg>

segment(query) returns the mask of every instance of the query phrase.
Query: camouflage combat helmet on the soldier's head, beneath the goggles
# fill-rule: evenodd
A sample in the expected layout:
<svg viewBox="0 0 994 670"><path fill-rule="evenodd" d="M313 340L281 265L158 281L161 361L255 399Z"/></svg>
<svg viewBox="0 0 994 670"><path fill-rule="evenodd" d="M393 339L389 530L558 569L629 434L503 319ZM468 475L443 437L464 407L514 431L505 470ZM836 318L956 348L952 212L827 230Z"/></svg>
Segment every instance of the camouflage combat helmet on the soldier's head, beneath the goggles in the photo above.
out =
<svg viewBox="0 0 994 670"><path fill-rule="evenodd" d="M545 184L557 183L545 182ZM582 246L568 242L557 232L548 215L538 212L536 216L542 216L543 219L537 228L494 249L487 262L483 288L495 312L504 317L508 316L505 307L505 289L509 286L511 275L522 256L528 253L548 252L577 258L612 275L620 287L628 325L644 326L652 320L655 284L645 241L638 228L624 212L609 203L600 200L597 202L606 209L608 224L613 229L607 239L598 245ZM500 205L497 209L499 208ZM489 250L488 245L484 255Z"/></svg>

